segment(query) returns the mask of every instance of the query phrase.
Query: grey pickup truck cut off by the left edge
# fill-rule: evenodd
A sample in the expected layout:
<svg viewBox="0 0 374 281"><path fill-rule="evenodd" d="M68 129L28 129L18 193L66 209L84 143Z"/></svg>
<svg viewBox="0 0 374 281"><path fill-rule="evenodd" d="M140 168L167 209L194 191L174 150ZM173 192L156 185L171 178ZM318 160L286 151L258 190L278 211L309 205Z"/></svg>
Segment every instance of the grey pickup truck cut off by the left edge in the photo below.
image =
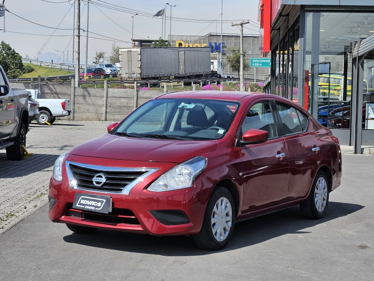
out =
<svg viewBox="0 0 374 281"><path fill-rule="evenodd" d="M0 66L0 149L9 160L23 159L29 129L29 99L26 90L12 89Z"/></svg>

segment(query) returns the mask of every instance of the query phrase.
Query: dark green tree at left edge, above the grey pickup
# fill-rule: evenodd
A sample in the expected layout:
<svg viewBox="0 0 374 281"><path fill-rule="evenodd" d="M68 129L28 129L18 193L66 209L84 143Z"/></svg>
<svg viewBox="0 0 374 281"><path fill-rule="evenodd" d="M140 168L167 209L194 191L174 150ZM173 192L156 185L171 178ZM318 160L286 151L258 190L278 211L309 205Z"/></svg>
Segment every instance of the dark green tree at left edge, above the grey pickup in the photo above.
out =
<svg viewBox="0 0 374 281"><path fill-rule="evenodd" d="M25 70L21 55L4 41L0 43L0 65L8 78L18 78Z"/></svg>

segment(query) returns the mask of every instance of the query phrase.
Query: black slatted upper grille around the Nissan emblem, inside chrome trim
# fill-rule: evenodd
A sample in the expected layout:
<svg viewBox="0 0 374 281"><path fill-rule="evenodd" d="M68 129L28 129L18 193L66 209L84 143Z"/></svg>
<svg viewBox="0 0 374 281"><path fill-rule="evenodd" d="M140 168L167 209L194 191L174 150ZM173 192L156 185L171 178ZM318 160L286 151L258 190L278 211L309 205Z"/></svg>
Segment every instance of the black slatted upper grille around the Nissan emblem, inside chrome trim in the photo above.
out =
<svg viewBox="0 0 374 281"><path fill-rule="evenodd" d="M74 176L77 188L121 193L129 183L136 180L138 177L143 176L149 171L100 171L87 167L69 164L70 171ZM106 181L101 186L94 185L94 176L102 174L105 176Z"/></svg>

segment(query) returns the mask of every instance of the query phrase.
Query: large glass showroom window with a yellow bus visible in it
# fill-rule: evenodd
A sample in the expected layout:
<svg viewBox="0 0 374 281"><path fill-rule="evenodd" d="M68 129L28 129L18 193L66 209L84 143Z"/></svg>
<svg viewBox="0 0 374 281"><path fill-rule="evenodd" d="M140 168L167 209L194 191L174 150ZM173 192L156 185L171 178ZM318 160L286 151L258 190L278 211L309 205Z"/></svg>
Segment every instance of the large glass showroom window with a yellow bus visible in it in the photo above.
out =
<svg viewBox="0 0 374 281"><path fill-rule="evenodd" d="M350 127L352 41L373 35L373 13L310 12L305 15L305 82L308 109L325 127ZM371 90L370 62L363 93Z"/></svg>

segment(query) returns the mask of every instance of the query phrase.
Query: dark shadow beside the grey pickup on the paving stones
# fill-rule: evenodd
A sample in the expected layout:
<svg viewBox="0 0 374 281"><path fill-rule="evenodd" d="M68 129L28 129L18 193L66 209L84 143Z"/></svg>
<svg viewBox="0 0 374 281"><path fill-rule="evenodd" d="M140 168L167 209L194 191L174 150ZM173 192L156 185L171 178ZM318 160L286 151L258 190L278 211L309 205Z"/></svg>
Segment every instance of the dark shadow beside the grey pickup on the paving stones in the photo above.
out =
<svg viewBox="0 0 374 281"><path fill-rule="evenodd" d="M68 149L62 151L61 154L66 151ZM34 153L34 155L24 158L21 161L10 161L6 158L6 153L0 153L0 178L16 178L31 175L39 171L49 173L52 176L52 166L59 156L56 154Z"/></svg>

